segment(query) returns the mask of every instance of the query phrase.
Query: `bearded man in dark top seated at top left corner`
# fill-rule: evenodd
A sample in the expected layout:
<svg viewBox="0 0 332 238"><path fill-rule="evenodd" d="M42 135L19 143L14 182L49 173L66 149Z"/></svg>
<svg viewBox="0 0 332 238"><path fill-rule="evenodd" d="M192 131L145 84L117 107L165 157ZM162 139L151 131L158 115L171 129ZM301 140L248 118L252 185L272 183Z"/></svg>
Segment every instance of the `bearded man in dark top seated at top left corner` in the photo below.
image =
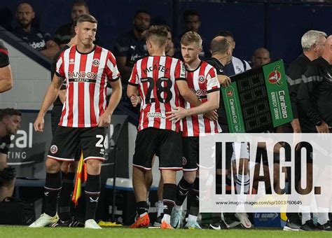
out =
<svg viewBox="0 0 332 238"><path fill-rule="evenodd" d="M19 26L15 28L14 33L32 48L52 58L59 50L59 46L50 39L50 34L43 34L39 29L32 27L34 16L34 8L29 3L20 3L16 11Z"/></svg>

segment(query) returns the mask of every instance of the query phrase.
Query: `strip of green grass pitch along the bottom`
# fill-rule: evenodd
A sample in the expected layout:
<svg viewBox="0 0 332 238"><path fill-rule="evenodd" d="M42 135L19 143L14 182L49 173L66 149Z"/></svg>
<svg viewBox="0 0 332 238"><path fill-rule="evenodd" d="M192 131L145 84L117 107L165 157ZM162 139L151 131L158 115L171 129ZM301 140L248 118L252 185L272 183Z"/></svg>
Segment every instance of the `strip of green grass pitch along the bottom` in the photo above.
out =
<svg viewBox="0 0 332 238"><path fill-rule="evenodd" d="M71 238L118 238L118 237L332 237L331 232L286 232L283 230L160 230L160 229L130 229L130 228L103 228L102 230L90 230L84 228L27 228L23 226L0 226L0 237L71 237Z"/></svg>

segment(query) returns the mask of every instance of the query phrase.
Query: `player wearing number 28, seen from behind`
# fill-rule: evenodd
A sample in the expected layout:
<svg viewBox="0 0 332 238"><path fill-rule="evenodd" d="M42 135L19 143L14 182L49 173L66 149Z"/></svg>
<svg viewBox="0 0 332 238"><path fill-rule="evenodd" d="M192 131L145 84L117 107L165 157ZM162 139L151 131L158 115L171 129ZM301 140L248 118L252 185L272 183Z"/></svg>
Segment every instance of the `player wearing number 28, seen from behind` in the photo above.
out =
<svg viewBox="0 0 332 238"><path fill-rule="evenodd" d="M127 96L131 101L141 101L132 161L132 183L139 216L131 228L147 227L150 223L146 203L146 175L151 170L153 155L158 151L159 169L164 181L162 200L165 207L160 228L172 229L170 216L177 193L176 171L182 169L182 143L180 122L167 119L167 112L180 105L180 95L194 106L202 104L188 87L184 64L179 59L165 56L166 44L165 27L152 26L146 31L146 45L150 56L136 62L127 87ZM213 110L206 106L203 109Z"/></svg>

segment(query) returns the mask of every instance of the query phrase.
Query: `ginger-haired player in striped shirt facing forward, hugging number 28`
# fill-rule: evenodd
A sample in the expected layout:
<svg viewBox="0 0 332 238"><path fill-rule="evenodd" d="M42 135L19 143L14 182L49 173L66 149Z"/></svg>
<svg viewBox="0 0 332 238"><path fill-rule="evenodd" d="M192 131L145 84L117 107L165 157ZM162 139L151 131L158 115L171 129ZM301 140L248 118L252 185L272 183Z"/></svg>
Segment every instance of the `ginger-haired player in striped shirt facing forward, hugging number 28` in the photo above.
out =
<svg viewBox="0 0 332 238"><path fill-rule="evenodd" d="M203 104L212 104L214 109L219 107L219 81L216 69L207 62L202 62L199 58L202 50L202 38L194 31L188 31L181 38L181 53L184 58L188 86L195 92L198 99ZM191 208L189 210L188 222L184 228L200 228L197 223L199 204L199 139L205 134L215 134L221 132L221 127L216 120L209 120L206 116L193 113L195 107L189 102L184 103L186 117L182 119L182 146L183 146L183 172L184 176L177 186L177 196L175 207L172 212L172 226L179 228L182 204L189 191L194 195ZM177 109L182 110L182 109ZM197 115L198 114L198 115ZM204 169L204 168L202 168ZM207 173L206 173L207 175ZM200 178L207 179L207 178Z"/></svg>

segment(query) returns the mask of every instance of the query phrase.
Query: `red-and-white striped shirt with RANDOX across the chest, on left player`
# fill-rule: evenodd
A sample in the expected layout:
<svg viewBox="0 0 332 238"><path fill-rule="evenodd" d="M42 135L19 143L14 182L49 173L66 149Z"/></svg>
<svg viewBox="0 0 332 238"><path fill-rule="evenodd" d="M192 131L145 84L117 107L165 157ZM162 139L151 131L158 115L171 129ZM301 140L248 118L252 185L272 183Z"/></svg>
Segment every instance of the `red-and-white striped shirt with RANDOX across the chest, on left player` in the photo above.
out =
<svg viewBox="0 0 332 238"><path fill-rule="evenodd" d="M106 110L107 80L120 77L111 51L98 45L89 53L76 46L64 50L57 60L56 73L67 80L66 99L59 125L62 127L95 127Z"/></svg>

